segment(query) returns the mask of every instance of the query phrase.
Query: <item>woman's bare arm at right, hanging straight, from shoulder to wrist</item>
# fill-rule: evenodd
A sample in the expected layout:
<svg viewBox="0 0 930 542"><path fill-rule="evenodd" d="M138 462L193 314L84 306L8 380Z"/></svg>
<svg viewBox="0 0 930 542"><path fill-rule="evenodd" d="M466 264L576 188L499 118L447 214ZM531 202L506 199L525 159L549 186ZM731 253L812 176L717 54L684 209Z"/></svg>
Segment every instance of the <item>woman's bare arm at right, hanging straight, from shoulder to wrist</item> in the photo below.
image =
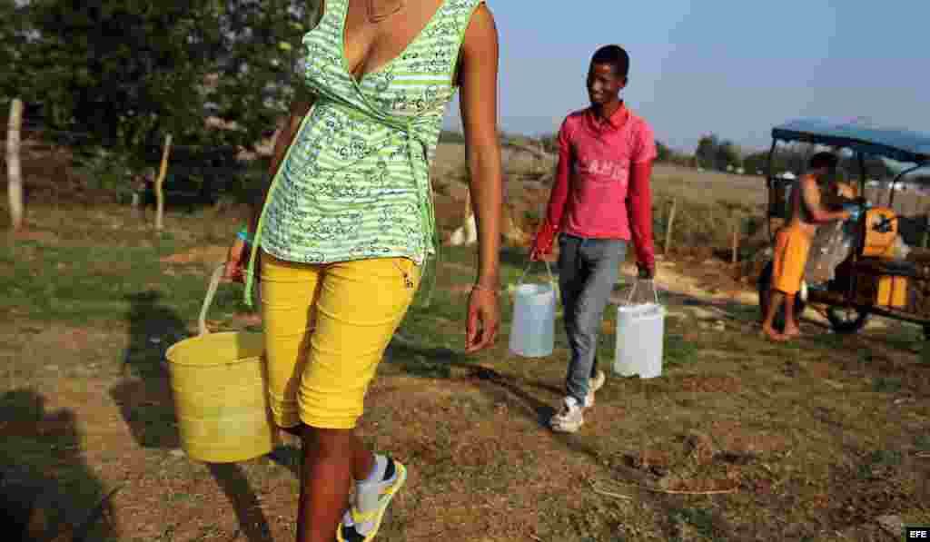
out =
<svg viewBox="0 0 930 542"><path fill-rule="evenodd" d="M472 209L478 226L477 284L497 291L503 198L498 145L498 29L485 5L478 7L465 31L458 80Z"/></svg>

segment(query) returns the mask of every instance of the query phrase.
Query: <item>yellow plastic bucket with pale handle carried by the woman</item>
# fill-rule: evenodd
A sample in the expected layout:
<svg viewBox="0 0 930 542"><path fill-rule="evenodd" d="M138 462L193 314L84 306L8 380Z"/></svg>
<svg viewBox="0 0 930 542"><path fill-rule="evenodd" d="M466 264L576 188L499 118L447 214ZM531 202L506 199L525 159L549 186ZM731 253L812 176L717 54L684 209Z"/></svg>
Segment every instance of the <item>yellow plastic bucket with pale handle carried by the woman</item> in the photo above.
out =
<svg viewBox="0 0 930 542"><path fill-rule="evenodd" d="M223 267L210 277L199 336L166 352L181 447L207 463L233 463L272 451L277 430L268 405L261 333L209 333L206 311Z"/></svg>

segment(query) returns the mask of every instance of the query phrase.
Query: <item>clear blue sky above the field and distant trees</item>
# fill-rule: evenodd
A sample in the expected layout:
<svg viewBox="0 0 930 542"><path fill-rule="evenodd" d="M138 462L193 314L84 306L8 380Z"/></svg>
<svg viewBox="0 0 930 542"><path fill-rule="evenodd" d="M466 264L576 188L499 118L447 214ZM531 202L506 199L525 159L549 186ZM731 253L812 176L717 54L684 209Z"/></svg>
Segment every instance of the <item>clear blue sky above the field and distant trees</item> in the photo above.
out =
<svg viewBox="0 0 930 542"><path fill-rule="evenodd" d="M693 151L714 132L765 148L797 116L930 131L926 0L490 0L500 33L500 127L554 131L585 107L591 54L631 55L628 104ZM447 125L460 126L458 101Z"/></svg>

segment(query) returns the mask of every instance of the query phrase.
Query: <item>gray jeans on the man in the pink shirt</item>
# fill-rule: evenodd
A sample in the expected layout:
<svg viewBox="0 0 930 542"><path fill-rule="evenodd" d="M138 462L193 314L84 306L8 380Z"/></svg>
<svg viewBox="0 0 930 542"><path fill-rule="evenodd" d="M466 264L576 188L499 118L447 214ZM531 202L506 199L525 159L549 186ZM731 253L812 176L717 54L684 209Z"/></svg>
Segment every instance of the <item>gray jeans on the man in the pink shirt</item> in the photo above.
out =
<svg viewBox="0 0 930 542"><path fill-rule="evenodd" d="M588 395L588 379L597 374L597 337L626 254L627 242L620 239L559 236L559 288L572 350L565 389L579 404Z"/></svg>

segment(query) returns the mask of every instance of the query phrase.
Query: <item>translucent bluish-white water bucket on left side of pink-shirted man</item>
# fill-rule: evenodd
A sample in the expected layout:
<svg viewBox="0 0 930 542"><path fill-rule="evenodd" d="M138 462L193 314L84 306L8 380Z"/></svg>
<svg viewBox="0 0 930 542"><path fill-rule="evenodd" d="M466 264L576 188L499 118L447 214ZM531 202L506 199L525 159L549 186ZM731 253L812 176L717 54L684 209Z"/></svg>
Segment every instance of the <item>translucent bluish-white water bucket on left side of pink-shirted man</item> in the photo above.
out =
<svg viewBox="0 0 930 542"><path fill-rule="evenodd" d="M549 262L546 262L549 269ZM527 271L529 267L527 266ZM526 271L524 271L524 275ZM551 284L521 284L520 277L513 291L513 321L510 350L525 358L549 356L555 349L556 288L552 272Z"/></svg>

